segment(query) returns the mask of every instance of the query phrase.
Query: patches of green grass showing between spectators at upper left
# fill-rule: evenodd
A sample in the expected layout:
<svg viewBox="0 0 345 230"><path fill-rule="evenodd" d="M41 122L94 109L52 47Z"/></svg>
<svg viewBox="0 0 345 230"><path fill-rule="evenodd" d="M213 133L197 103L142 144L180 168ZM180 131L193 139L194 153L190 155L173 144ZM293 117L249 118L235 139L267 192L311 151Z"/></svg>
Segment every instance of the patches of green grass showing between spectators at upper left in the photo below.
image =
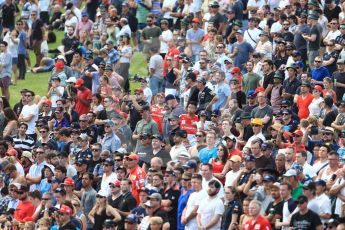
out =
<svg viewBox="0 0 345 230"><path fill-rule="evenodd" d="M63 32L58 31L56 32L57 42L55 44L49 44L49 49L57 48L61 45L61 40L63 38ZM35 55L33 51L30 51L30 60L31 65L35 65ZM131 67L129 72L131 76L136 73L139 73L141 76L147 75L147 64L142 53L136 52L134 57L131 61ZM50 72L48 73L26 73L25 80L18 80L16 86L10 86L10 104L14 106L20 98L20 90L21 89L30 89L39 96L45 96L47 93L47 86L48 86L48 79L50 76ZM139 87L139 83L137 82L130 82L131 90L136 89Z"/></svg>

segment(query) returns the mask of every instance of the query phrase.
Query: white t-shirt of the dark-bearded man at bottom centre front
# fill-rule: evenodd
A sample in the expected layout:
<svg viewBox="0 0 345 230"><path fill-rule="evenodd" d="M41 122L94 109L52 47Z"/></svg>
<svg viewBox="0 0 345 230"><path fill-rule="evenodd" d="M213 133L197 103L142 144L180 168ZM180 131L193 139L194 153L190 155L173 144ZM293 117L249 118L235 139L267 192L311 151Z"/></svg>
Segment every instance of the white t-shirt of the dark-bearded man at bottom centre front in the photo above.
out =
<svg viewBox="0 0 345 230"><path fill-rule="evenodd" d="M215 215L223 215L224 213L224 204L223 201L219 197L214 197L210 199L209 197L206 197L200 202L199 208L198 208L198 215L201 216L201 224L205 226L208 224L211 219ZM220 229L220 225L222 222L222 218L219 218L219 221L212 226L211 228L208 228L210 230L218 230Z"/></svg>

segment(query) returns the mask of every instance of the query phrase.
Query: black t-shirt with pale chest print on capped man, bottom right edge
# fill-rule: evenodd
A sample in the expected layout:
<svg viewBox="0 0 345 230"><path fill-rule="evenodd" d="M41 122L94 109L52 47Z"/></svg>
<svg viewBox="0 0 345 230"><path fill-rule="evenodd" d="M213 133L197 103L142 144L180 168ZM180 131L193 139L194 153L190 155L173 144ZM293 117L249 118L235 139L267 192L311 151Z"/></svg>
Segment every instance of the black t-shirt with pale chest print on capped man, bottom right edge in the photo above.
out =
<svg viewBox="0 0 345 230"><path fill-rule="evenodd" d="M311 210L308 210L304 215L301 215L300 212L296 212L292 215L290 221L290 227L294 229L316 229L320 225L322 225L322 223L319 215Z"/></svg>

